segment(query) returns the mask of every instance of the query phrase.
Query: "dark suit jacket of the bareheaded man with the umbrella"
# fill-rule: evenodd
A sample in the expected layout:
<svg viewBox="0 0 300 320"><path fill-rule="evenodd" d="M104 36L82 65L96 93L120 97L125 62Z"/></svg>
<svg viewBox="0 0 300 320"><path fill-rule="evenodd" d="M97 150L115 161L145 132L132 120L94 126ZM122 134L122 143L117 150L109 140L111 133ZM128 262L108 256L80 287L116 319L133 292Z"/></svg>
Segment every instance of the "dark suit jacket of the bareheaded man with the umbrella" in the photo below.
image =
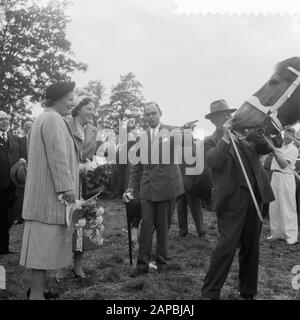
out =
<svg viewBox="0 0 300 320"><path fill-rule="evenodd" d="M161 124L159 131L161 132L163 129L171 131L175 127ZM150 155L150 129L145 134L147 137L144 138L148 139L148 155ZM128 187L135 190L139 189L141 200L166 201L177 198L184 193L180 168L178 164L174 163L174 154L172 152L174 150L174 139L170 139L170 164L163 164L161 161L162 143L163 138L160 138L158 164L151 164L149 161L148 164L138 163L131 168Z"/></svg>

